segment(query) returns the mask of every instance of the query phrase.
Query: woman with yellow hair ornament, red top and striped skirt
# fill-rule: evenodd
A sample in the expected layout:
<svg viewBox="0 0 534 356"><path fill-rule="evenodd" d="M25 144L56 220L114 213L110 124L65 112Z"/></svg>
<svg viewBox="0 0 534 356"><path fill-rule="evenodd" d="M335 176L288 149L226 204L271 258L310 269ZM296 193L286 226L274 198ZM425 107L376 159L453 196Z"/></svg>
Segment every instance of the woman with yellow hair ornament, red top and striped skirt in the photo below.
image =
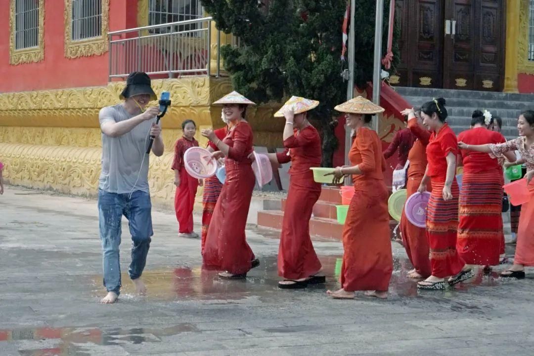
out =
<svg viewBox="0 0 534 356"><path fill-rule="evenodd" d="M473 271L458 255L456 236L458 230L458 198L456 182L456 155L458 141L452 129L445 123L447 109L445 99L429 101L421 107L423 124L432 132L427 145L428 165L418 191L424 192L429 178L432 193L427 207L427 237L430 244L430 277L417 284L419 289L445 289L474 276Z"/></svg>

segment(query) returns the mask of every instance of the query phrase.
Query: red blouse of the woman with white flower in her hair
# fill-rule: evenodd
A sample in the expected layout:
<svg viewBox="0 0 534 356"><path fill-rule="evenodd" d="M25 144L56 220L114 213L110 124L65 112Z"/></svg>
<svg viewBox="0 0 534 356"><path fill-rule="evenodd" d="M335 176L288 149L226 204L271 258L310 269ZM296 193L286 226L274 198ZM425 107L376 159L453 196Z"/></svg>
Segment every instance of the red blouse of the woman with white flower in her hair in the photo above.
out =
<svg viewBox="0 0 534 356"><path fill-rule="evenodd" d="M486 144L486 143L503 143L506 142L504 136L497 131L490 131L485 127L476 127L461 132L458 135L458 141L467 144ZM470 150L460 150L464 171L478 173L488 169L501 170L497 158L491 158L488 153L476 152Z"/></svg>

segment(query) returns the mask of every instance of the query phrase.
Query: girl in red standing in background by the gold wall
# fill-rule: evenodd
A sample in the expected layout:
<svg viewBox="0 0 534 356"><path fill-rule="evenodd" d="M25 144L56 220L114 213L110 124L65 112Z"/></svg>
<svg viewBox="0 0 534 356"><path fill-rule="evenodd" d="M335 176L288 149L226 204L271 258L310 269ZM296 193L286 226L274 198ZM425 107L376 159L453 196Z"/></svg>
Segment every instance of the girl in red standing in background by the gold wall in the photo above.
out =
<svg viewBox="0 0 534 356"><path fill-rule="evenodd" d="M176 141L174 147L174 160L171 169L174 170L174 185L176 195L174 197L174 209L179 224L179 237L199 237L193 231L193 205L197 188L202 186L202 180L193 178L184 167L184 152L190 147L198 147L199 143L194 138L197 125L193 120L185 120L182 123L184 135Z"/></svg>

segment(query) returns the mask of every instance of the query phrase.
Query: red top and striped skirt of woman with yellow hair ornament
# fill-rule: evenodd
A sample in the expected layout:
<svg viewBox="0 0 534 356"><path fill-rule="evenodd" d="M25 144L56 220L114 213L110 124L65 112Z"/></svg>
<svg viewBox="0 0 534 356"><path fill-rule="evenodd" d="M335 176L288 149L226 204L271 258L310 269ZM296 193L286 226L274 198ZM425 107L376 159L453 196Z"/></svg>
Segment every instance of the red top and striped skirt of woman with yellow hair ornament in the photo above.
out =
<svg viewBox="0 0 534 356"><path fill-rule="evenodd" d="M430 135L427 145L428 176L432 180L432 193L427 207L427 237L430 244L432 275L438 278L456 276L465 262L456 250L458 231L458 198L460 191L456 177L452 182L452 199L443 199L443 187L447 173L446 156L452 152L456 157L456 135L444 124L439 132Z"/></svg>

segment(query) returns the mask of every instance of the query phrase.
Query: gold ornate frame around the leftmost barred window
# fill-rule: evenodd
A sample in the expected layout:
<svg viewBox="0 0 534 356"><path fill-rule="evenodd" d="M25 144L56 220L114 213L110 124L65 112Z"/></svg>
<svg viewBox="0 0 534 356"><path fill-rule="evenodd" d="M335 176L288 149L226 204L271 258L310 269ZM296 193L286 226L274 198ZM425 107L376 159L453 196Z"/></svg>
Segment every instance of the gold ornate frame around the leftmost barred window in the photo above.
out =
<svg viewBox="0 0 534 356"><path fill-rule="evenodd" d="M37 33L37 46L17 50L15 47L15 0L9 2L9 63L13 65L22 63L40 62L44 59L44 0L38 0L39 30Z"/></svg>

